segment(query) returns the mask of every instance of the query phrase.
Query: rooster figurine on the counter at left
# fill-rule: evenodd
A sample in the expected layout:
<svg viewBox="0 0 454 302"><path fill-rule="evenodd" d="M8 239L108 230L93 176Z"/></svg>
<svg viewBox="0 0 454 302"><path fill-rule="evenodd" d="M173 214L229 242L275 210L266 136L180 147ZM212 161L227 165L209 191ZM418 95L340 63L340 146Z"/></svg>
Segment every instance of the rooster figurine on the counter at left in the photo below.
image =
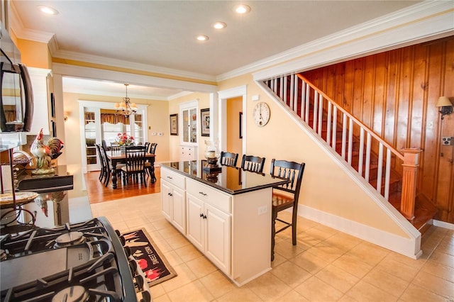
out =
<svg viewBox="0 0 454 302"><path fill-rule="evenodd" d="M43 143L43 128L40 133L36 135L35 140L31 144L30 152L36 157L36 169L33 170L32 174L49 174L55 172L50 167L50 161L55 160L59 157L63 149L63 142L58 138L51 138L48 141L48 145Z"/></svg>

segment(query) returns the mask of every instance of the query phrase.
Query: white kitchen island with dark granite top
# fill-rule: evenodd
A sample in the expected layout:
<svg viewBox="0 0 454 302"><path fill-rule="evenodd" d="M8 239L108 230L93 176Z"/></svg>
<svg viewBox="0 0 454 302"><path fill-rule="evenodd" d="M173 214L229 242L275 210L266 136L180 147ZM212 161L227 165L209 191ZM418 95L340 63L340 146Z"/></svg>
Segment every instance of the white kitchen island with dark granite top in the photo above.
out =
<svg viewBox="0 0 454 302"><path fill-rule="evenodd" d="M206 161L161 164L162 214L242 286L271 269L272 186L288 181Z"/></svg>

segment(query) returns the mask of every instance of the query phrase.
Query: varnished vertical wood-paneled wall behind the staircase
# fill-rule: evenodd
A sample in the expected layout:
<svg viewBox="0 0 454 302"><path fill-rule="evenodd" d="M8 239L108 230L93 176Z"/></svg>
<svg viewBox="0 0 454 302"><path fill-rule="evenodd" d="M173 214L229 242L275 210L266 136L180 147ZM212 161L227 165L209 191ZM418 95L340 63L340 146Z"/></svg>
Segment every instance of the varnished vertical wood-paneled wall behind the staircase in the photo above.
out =
<svg viewBox="0 0 454 302"><path fill-rule="evenodd" d="M454 104L454 36L361 57L304 76L397 150L419 147L419 198L454 223L454 113L441 120L436 102Z"/></svg>

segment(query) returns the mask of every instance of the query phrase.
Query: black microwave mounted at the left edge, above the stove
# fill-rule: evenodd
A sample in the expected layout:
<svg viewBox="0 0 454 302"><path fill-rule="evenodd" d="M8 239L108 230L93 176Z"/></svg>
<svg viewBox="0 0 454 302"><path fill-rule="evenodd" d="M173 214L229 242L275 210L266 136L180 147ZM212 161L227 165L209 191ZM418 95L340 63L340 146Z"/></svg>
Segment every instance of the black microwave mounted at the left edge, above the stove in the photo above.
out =
<svg viewBox="0 0 454 302"><path fill-rule="evenodd" d="M0 132L28 132L33 119L33 91L26 65L1 26L0 40Z"/></svg>

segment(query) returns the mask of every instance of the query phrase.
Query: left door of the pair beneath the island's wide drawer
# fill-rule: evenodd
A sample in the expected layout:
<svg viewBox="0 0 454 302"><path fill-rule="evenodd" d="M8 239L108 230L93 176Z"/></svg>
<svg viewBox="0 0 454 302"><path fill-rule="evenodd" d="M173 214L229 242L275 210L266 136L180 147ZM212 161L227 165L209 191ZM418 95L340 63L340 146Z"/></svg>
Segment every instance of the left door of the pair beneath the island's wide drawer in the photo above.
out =
<svg viewBox="0 0 454 302"><path fill-rule="evenodd" d="M204 252L204 202L187 194L187 228L186 236L201 252Z"/></svg>

